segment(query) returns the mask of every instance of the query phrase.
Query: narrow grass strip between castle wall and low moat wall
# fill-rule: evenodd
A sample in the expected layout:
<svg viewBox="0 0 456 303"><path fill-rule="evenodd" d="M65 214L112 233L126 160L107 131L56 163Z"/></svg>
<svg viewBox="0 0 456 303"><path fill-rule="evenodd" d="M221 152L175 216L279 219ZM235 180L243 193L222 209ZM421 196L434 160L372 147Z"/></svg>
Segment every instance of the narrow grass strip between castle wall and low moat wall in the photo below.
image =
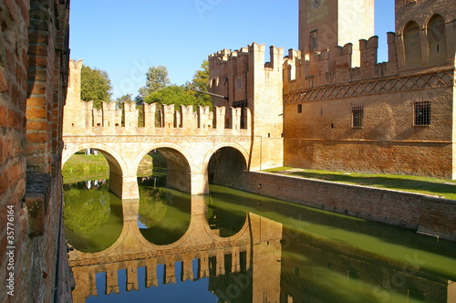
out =
<svg viewBox="0 0 456 303"><path fill-rule="evenodd" d="M337 183L358 184L401 192L436 195L456 200L456 181L418 176L372 174L358 172L327 172L292 167L277 167L264 172L281 173L295 177L325 180Z"/></svg>

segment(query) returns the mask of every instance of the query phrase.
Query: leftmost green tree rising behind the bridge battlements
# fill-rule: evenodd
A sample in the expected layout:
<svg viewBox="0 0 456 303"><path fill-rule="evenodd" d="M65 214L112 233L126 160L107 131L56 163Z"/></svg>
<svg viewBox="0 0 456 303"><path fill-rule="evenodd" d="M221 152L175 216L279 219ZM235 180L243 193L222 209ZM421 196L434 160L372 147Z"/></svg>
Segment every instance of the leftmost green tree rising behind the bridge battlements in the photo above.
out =
<svg viewBox="0 0 456 303"><path fill-rule="evenodd" d="M81 99L94 101L94 107L101 109L101 102L110 102L111 81L106 71L98 68L82 66L81 69Z"/></svg>

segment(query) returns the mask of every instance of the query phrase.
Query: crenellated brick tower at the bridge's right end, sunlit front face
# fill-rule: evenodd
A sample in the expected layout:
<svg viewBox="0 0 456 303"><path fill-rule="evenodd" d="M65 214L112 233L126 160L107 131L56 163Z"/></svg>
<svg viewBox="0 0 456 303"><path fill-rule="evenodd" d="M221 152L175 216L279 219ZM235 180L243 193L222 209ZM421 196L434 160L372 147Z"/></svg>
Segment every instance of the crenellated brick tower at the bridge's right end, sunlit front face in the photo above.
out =
<svg viewBox="0 0 456 303"><path fill-rule="evenodd" d="M241 117L241 125L236 125L231 116L224 115L226 127L253 131L253 171L283 164L284 49L269 47L268 53L269 61L264 63L266 47L253 43L239 50L223 49L209 57L209 91L225 97L213 98L213 104L226 106L232 116ZM252 117L245 116L246 108ZM246 125L249 121L252 125Z"/></svg>

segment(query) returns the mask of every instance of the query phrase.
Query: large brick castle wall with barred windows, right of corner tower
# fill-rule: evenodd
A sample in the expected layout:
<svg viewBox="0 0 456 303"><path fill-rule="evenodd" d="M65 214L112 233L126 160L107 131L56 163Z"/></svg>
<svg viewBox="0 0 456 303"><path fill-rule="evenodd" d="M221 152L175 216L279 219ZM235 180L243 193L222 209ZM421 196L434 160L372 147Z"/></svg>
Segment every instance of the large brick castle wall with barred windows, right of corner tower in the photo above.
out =
<svg viewBox="0 0 456 303"><path fill-rule="evenodd" d="M351 43L290 49L284 165L456 178L455 8L454 1L397 0L388 62L378 63L376 36L353 41L357 68ZM417 124L420 103L429 104L429 120Z"/></svg>

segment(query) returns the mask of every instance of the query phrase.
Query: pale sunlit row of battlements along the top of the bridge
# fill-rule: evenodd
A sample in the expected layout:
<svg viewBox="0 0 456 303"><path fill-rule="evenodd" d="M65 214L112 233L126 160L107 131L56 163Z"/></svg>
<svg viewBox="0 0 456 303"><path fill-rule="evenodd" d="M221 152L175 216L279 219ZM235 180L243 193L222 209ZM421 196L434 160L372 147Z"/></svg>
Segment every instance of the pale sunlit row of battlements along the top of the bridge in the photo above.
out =
<svg viewBox="0 0 456 303"><path fill-rule="evenodd" d="M102 103L102 109L93 108L93 101L79 101L74 106L74 112L66 117L64 135L76 134L87 129L124 129L124 130L154 130L154 129L181 129L189 134L198 130L248 131L251 125L251 111L249 109L234 109L227 107L176 106L156 103L137 106L134 102ZM241 123L241 120L246 120ZM225 123L230 120L231 123Z"/></svg>

